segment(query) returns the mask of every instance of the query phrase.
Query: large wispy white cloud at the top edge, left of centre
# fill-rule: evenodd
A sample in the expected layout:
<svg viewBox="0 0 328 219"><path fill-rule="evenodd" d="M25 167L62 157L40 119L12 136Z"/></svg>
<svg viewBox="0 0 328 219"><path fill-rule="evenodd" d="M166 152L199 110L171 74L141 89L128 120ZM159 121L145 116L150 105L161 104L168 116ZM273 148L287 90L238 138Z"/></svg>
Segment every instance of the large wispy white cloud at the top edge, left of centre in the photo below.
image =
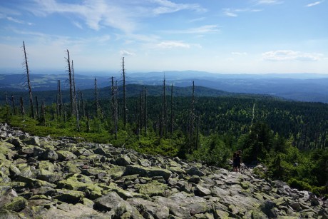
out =
<svg viewBox="0 0 328 219"><path fill-rule="evenodd" d="M136 5L136 1L85 0L79 4L63 3L56 0L34 0L28 9L37 16L48 14L75 14L83 19L90 29L99 30L113 27L125 33L133 33L138 21L150 16L176 11L206 11L199 4L176 4L168 0L147 0ZM76 24L75 24L76 25Z"/></svg>

